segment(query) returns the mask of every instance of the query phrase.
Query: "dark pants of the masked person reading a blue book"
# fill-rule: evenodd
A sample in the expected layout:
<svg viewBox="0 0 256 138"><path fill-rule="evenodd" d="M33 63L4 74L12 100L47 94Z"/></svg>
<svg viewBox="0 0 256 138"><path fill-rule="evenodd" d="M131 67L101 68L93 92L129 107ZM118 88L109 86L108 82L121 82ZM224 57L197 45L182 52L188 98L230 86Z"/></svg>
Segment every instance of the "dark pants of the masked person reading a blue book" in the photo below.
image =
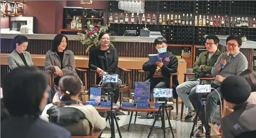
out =
<svg viewBox="0 0 256 138"><path fill-rule="evenodd" d="M164 78L151 78L146 80L145 82L150 83L150 90L153 88L169 88L168 82ZM150 99L151 101L151 99ZM158 101L164 101L164 98L158 98Z"/></svg>

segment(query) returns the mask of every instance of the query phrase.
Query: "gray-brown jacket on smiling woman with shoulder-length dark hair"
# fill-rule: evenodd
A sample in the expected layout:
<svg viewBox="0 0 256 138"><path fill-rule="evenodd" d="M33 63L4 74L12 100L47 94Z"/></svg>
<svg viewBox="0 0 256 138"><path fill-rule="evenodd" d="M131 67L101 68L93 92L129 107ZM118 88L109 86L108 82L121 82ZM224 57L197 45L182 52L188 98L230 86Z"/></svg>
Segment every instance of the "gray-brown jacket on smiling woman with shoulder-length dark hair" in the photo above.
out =
<svg viewBox="0 0 256 138"><path fill-rule="evenodd" d="M61 71L63 72L63 75L67 73L76 74L74 54L72 51L64 51L62 64L63 68L61 69ZM52 52L51 50L49 50L45 55L44 69L51 70L52 66L58 66L59 68L61 68L61 58L59 57L59 55L57 55L56 52Z"/></svg>

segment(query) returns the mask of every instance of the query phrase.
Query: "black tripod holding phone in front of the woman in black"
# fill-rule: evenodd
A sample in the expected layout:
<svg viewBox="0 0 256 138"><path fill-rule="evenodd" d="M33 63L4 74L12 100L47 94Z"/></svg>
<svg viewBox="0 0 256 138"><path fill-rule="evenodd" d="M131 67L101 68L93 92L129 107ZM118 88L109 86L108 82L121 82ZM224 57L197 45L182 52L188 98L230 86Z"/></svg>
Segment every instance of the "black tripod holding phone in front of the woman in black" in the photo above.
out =
<svg viewBox="0 0 256 138"><path fill-rule="evenodd" d="M106 117L106 121L109 119L109 122L110 122L110 131L111 131L111 137L110 138L115 138L114 121L115 121L115 124L116 124L116 127L117 127L117 131L118 131L119 137L122 138L121 132L120 132L120 129L119 129L119 125L118 125L118 122L117 122L117 119L116 119L116 116L115 116L115 110L113 110L113 102L114 102L113 101L113 99L114 99L113 90L115 90L115 88L105 88L105 90L108 91L108 93L109 93L108 95L110 95L110 97L111 97L110 98L111 109L108 112L108 115Z"/></svg>

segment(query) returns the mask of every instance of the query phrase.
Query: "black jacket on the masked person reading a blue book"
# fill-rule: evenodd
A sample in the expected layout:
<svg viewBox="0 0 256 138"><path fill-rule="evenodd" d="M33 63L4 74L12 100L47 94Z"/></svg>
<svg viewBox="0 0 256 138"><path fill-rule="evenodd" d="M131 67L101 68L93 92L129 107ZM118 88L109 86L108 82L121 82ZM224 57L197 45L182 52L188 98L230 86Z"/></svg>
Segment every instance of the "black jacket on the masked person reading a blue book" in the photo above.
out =
<svg viewBox="0 0 256 138"><path fill-rule="evenodd" d="M162 75L164 77L164 79L168 82L168 84L170 85L170 77L171 77L171 73L177 73L177 69L178 69L178 58L171 54L169 51L168 52L168 57L170 59L170 61L168 62L164 62L163 67L161 68L161 72ZM149 76L147 77L148 79L151 79L155 73L155 69L156 69L156 65L151 64L150 61L148 60L146 63L143 64L143 70L144 71L149 71ZM173 98L177 98L177 93L176 93L176 87L179 85L178 82L178 76L174 75L173 76Z"/></svg>

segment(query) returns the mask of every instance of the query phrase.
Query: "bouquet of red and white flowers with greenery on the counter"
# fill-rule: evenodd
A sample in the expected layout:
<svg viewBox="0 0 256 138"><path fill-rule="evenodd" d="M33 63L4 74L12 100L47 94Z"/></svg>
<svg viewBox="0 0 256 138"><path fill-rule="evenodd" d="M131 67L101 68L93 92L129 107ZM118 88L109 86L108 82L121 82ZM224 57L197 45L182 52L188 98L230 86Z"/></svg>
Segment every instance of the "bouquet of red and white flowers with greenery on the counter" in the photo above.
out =
<svg viewBox="0 0 256 138"><path fill-rule="evenodd" d="M90 21L88 21L86 26L88 30L85 30L85 33L78 32L77 34L80 35L81 37L76 40L80 41L83 45L87 45L88 47L86 49L86 52L88 52L92 46L100 45L100 42L98 39L99 34L101 32L108 31L110 28L110 24L106 24L106 26L100 26L100 24L98 24L98 27L94 27L94 25ZM111 33L109 33L109 35L110 34ZM114 38L110 37L109 46L114 47L113 42L114 42Z"/></svg>

